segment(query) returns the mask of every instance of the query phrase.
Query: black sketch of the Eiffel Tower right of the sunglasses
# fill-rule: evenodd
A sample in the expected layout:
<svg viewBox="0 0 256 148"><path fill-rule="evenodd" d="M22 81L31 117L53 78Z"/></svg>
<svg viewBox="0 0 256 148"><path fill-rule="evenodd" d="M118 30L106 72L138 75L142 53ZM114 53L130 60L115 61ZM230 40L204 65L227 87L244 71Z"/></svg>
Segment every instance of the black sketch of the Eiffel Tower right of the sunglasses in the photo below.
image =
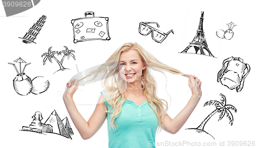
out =
<svg viewBox="0 0 256 148"><path fill-rule="evenodd" d="M197 34L196 34L195 38L193 39L193 41L190 42L189 45L185 48L185 50L182 51L181 53L187 53L187 50L190 47L194 46L194 48L196 50L196 54L200 50L201 55L205 55L205 53L203 51L203 49L205 49L209 53L210 57L214 57L214 55L211 54L211 52L208 48L208 45L206 43L205 37L204 37L204 31L203 31L203 19L204 18L203 17L204 17L204 12L202 11Z"/></svg>

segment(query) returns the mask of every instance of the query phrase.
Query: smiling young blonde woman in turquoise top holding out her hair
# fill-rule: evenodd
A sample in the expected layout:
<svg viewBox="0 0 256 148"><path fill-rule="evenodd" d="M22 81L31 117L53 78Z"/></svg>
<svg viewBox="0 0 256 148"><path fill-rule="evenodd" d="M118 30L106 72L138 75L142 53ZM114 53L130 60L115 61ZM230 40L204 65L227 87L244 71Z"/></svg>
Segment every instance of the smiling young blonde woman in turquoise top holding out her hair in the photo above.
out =
<svg viewBox="0 0 256 148"><path fill-rule="evenodd" d="M111 62L116 64L108 65ZM156 81L150 69L188 78L192 96L174 119L166 113L167 102L157 97ZM202 83L197 77L161 63L137 43L123 44L106 61L106 66L102 64L84 78L97 76L100 72L104 72L106 76L104 83L102 81L104 90L101 91L95 111L88 121L80 115L73 101L78 80L72 80L72 84L67 83L63 101L83 139L91 138L107 118L109 147L154 147L148 143L155 142L157 129L177 133L202 95Z"/></svg>

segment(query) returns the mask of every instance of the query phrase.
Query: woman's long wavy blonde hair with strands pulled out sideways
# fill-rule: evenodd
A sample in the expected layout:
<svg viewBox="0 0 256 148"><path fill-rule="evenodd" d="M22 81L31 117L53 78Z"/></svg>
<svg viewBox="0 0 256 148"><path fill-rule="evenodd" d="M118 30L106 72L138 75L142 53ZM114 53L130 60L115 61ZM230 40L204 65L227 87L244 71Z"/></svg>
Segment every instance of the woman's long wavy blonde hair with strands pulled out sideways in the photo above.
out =
<svg viewBox="0 0 256 148"><path fill-rule="evenodd" d="M175 75L181 75L186 78L189 78L189 75L182 73L181 71L172 68L166 64L163 64L159 60L157 60L152 54L148 53L146 50L143 49L142 46L140 46L137 43L125 43L121 47L118 48L114 52L111 57L106 60L105 64L102 64L98 69L91 71L86 77L87 78L91 75L94 75L95 77L91 80L94 80L100 72L104 72L104 81L102 80L102 86L104 90L106 90L105 99L106 102L112 106L111 110L105 109L106 113L112 113L111 121L110 121L110 128L113 128L114 130L117 130L118 125L115 122L115 118L120 114L122 110L122 104L126 100L124 96L125 91L125 81L121 78L119 72L118 72L118 61L119 57L122 52L129 51L129 50L136 50L142 60L143 63L146 64L146 68L142 70L142 88L144 96L148 102L148 105L152 108L153 112L157 116L158 119L158 125L160 128L160 131L163 129L163 120L164 116L168 109L168 103L157 97L156 94L156 81L154 77L150 73L150 69L159 71L163 73L163 71L167 71L170 73L173 73ZM163 73L164 75L164 73ZM164 75L165 76L165 75ZM166 77L166 76L165 76ZM89 81L91 81L89 80ZM196 83L197 84L197 83ZM145 87L146 86L146 87ZM166 86L165 86L166 87ZM193 86L194 87L194 86ZM164 104L165 103L165 104ZM156 106L157 110L153 107L153 105ZM165 106L165 108L164 108ZM158 130L159 130L158 128Z"/></svg>

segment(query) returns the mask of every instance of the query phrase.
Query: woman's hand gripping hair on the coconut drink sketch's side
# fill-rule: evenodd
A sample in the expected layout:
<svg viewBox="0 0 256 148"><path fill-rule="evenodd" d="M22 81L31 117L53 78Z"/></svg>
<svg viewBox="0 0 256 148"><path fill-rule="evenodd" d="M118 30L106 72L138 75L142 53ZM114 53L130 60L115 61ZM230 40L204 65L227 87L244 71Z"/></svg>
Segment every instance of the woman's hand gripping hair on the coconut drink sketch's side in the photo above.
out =
<svg viewBox="0 0 256 148"><path fill-rule="evenodd" d="M63 100L66 100L67 98L73 98L74 93L78 89L78 84L79 82L77 79L73 79L67 83L67 89L63 94Z"/></svg>

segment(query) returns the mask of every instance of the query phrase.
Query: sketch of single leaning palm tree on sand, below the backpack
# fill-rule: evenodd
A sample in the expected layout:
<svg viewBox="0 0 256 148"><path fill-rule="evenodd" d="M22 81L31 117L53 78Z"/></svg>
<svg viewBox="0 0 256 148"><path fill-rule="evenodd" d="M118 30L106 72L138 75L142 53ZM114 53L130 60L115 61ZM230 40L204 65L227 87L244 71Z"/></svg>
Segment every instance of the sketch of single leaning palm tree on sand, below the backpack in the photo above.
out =
<svg viewBox="0 0 256 148"><path fill-rule="evenodd" d="M233 110L236 113L237 109L232 105L227 105L226 104L225 95L223 95L221 93L220 96L221 96L221 102L219 102L219 101L207 101L204 104L204 107L207 106L207 105L208 106L214 105L216 107L216 109L213 112L211 112L197 128L190 128L190 129L186 129L186 130L196 130L197 133L201 133L201 134L206 133L206 134L210 135L209 133L204 131L204 126L205 126L206 122L210 119L210 117L212 117L217 112L220 113L219 114L219 120L221 120L226 115L226 117L229 119L229 124L232 126L233 125L233 115L230 112L230 110ZM213 136L211 136L211 137L214 138Z"/></svg>

